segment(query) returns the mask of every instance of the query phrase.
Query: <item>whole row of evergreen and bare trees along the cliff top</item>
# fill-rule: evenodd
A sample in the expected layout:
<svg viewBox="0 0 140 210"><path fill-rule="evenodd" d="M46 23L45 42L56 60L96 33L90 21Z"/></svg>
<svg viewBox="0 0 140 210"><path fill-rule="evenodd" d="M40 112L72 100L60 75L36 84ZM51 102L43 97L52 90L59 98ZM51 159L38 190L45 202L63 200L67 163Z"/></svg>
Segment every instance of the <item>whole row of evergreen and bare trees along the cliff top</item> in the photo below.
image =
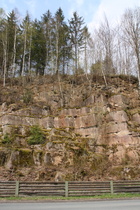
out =
<svg viewBox="0 0 140 210"><path fill-rule="evenodd" d="M77 12L66 21L61 8L47 11L41 20L30 15L19 20L0 8L0 78L38 75L135 75L140 87L140 7L127 9L118 25L107 18L93 35ZM118 30L119 29L119 30ZM90 82L90 80L89 80ZM60 87L61 89L61 87Z"/></svg>

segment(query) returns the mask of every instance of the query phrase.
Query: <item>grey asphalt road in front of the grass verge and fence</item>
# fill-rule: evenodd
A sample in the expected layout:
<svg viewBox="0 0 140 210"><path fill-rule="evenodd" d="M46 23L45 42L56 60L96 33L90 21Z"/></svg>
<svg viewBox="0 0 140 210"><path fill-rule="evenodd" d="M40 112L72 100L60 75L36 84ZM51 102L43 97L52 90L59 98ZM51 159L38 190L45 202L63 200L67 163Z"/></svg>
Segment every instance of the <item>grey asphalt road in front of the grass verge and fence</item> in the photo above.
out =
<svg viewBox="0 0 140 210"><path fill-rule="evenodd" d="M0 203L0 210L140 210L140 200Z"/></svg>

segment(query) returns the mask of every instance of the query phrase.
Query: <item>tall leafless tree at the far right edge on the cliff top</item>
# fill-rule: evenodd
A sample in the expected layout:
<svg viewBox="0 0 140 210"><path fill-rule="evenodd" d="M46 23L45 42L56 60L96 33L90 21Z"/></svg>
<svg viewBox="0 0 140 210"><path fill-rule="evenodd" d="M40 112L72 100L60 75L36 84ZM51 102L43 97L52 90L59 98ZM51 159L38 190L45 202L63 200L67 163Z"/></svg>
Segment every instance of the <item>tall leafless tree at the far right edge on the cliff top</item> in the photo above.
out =
<svg viewBox="0 0 140 210"><path fill-rule="evenodd" d="M122 31L123 40L131 47L136 59L140 89L140 7L126 10L122 18Z"/></svg>

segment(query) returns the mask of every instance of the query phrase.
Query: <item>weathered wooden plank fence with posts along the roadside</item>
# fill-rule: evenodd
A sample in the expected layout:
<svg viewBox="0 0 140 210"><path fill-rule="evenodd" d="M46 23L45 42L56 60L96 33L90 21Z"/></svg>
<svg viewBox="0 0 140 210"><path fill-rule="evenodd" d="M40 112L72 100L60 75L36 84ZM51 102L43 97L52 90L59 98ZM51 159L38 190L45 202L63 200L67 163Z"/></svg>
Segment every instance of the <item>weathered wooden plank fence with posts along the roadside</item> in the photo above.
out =
<svg viewBox="0 0 140 210"><path fill-rule="evenodd" d="M23 182L0 181L0 197L94 196L105 193L140 193L140 181Z"/></svg>

